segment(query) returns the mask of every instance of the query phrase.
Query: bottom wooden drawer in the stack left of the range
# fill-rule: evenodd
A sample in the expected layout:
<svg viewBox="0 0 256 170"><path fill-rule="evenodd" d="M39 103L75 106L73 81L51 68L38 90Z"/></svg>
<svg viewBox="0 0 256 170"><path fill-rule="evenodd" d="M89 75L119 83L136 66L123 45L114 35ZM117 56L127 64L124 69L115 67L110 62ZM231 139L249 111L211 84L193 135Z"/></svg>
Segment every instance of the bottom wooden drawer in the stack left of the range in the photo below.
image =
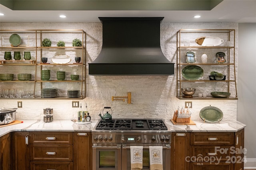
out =
<svg viewBox="0 0 256 170"><path fill-rule="evenodd" d="M73 162L31 161L30 170L73 170Z"/></svg>

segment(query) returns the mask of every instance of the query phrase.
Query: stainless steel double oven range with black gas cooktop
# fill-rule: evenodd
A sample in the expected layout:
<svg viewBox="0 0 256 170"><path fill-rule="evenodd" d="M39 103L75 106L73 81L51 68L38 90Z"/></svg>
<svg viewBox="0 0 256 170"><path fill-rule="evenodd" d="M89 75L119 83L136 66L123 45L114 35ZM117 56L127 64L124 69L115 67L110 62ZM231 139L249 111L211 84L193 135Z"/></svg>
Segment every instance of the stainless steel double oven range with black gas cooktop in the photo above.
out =
<svg viewBox="0 0 256 170"><path fill-rule="evenodd" d="M143 170L150 169L149 146L163 147L170 170L171 131L162 119L99 120L92 130L92 170L130 170L130 146L143 146Z"/></svg>

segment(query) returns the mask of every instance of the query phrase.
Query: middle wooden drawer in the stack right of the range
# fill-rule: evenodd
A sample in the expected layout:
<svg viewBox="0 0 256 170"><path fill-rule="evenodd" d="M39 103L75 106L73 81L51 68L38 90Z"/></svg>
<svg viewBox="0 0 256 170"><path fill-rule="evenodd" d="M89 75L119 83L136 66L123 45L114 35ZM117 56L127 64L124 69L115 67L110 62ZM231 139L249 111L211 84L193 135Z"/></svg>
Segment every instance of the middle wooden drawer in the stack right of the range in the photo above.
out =
<svg viewBox="0 0 256 170"><path fill-rule="evenodd" d="M196 162L210 161L212 162L225 162L233 156L231 154L231 145L219 145L218 147L207 146L207 145L194 145L190 146L190 158L196 158Z"/></svg>

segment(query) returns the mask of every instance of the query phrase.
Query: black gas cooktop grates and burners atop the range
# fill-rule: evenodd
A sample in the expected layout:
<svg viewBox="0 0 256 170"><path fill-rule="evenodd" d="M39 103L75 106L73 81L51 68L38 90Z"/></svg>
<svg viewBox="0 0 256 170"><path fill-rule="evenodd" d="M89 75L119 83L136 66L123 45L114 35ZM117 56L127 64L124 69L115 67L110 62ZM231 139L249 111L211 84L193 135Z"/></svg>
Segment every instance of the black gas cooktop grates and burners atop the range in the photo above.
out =
<svg viewBox="0 0 256 170"><path fill-rule="evenodd" d="M167 130L161 119L112 119L100 120L96 125L100 130Z"/></svg>

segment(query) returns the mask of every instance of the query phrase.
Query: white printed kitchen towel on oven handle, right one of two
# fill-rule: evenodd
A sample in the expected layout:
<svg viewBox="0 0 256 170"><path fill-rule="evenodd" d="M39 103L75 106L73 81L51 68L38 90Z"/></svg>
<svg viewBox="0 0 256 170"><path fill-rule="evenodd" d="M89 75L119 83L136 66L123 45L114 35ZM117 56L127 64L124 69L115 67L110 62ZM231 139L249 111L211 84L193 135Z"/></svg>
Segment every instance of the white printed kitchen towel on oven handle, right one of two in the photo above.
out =
<svg viewBox="0 0 256 170"><path fill-rule="evenodd" d="M149 147L150 170L163 170L163 147Z"/></svg>

